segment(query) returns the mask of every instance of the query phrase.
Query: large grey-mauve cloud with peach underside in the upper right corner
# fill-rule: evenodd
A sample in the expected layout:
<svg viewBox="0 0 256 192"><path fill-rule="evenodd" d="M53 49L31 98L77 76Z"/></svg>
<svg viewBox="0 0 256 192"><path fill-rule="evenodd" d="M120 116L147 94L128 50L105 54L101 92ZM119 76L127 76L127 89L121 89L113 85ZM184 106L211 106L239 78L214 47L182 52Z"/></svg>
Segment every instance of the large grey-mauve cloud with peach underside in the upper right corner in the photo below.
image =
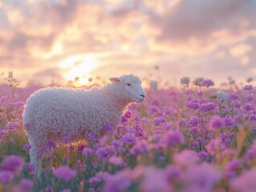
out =
<svg viewBox="0 0 256 192"><path fill-rule="evenodd" d="M200 54L236 38L255 38L255 6L255 1L175 0L163 13L151 14L151 26L161 29L153 44Z"/></svg>

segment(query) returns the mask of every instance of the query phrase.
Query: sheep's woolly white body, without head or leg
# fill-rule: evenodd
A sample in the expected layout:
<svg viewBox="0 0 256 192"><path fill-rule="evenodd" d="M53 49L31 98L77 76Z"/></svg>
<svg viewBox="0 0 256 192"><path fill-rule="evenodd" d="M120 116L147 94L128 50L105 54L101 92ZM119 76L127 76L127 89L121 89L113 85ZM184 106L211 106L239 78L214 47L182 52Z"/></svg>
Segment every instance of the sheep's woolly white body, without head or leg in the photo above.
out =
<svg viewBox="0 0 256 192"><path fill-rule="evenodd" d="M74 90L53 87L35 92L27 100L24 113L24 122L30 124L26 130L28 135L38 145L63 136L84 139L90 132L100 136L103 126L116 126L120 122L128 104L115 98L114 94L118 92L113 94L104 88L106 94L98 88Z"/></svg>

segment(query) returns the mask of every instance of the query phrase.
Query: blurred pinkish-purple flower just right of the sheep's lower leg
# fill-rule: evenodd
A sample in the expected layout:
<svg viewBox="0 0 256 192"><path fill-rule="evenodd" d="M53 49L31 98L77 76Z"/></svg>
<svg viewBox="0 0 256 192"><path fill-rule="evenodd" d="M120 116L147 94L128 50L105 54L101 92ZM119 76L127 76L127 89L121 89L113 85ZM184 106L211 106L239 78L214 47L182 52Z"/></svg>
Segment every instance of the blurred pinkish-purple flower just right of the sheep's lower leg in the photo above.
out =
<svg viewBox="0 0 256 192"><path fill-rule="evenodd" d="M76 170L72 170L69 166L59 166L53 171L55 178L63 179L65 182L71 181L77 175Z"/></svg>

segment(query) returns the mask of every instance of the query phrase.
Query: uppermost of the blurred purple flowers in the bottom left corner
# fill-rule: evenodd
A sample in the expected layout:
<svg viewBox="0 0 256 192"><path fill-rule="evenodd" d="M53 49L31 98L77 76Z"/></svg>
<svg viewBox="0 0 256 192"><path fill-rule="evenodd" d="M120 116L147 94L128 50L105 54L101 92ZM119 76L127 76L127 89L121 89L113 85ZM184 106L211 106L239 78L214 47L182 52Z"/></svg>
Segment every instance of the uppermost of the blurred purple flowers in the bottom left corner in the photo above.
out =
<svg viewBox="0 0 256 192"><path fill-rule="evenodd" d="M16 155L7 156L2 161L2 169L12 171L14 173L19 173L22 170L23 165L23 159Z"/></svg>

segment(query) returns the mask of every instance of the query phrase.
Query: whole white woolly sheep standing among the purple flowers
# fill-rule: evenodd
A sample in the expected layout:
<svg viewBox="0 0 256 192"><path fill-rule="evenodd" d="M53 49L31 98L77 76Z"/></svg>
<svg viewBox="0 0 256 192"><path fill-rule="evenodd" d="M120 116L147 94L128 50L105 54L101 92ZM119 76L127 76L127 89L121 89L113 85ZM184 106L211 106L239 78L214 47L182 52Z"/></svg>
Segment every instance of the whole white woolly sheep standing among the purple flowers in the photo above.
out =
<svg viewBox="0 0 256 192"><path fill-rule="evenodd" d="M112 137L124 110L130 103L144 101L145 92L140 78L133 74L109 78L110 83L90 90L67 87L47 87L35 91L26 100L23 122L30 142L30 162L40 177L42 158L39 148L47 141L59 143L68 137L71 142L96 138L104 134L103 127L110 125Z"/></svg>

